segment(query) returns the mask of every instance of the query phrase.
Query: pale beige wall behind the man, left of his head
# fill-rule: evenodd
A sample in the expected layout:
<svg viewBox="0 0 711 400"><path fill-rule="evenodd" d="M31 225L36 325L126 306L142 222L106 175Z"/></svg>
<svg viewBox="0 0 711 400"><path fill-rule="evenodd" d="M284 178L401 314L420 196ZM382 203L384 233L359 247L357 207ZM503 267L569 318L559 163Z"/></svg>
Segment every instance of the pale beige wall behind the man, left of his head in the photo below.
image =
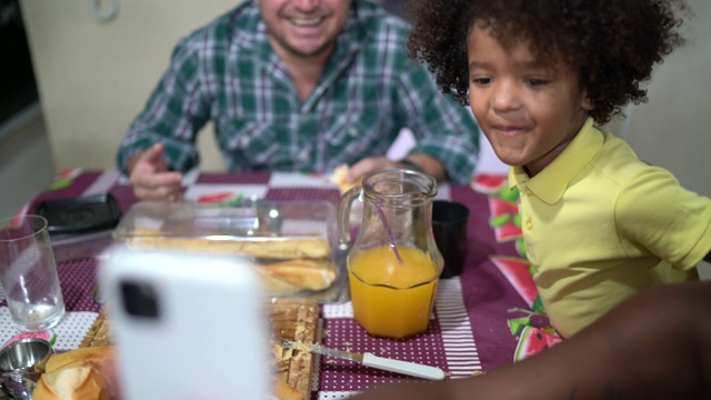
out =
<svg viewBox="0 0 711 400"><path fill-rule="evenodd" d="M58 170L116 168L119 141L178 39L240 0L116 2L117 18L99 22L93 1L20 1ZM203 168L222 169L212 134L200 146Z"/></svg>

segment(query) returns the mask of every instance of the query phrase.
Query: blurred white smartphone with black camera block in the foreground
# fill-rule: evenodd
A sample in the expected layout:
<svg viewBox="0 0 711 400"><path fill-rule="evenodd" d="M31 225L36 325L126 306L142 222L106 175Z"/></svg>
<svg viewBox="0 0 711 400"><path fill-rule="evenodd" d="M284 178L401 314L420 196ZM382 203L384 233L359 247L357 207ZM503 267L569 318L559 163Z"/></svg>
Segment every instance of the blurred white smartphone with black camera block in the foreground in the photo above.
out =
<svg viewBox="0 0 711 400"><path fill-rule="evenodd" d="M100 267L129 400L264 399L264 294L249 260L112 248Z"/></svg>

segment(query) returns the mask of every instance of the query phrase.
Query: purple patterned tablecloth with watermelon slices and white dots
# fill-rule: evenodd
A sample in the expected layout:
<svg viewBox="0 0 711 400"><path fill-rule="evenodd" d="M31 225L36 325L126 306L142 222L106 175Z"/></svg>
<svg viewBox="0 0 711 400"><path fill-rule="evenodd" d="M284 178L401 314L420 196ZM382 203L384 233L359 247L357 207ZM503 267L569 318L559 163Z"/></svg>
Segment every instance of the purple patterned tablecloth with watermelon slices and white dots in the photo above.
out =
<svg viewBox="0 0 711 400"><path fill-rule="evenodd" d="M407 340L369 336L354 320L350 302L324 304L323 343L338 349L370 351L381 357L441 367L451 378L465 378L511 363L521 328L534 326L537 293L522 258L515 193L501 177L480 177L471 186L441 184L438 198L460 201L471 210L468 253L460 277L441 280L432 323ZM186 198L329 200L338 204L338 188L323 176L300 173L201 173L186 178ZM475 189L475 190L474 190ZM123 212L137 200L116 171L69 170L20 212L32 212L42 200L111 192ZM96 249L91 249L94 251ZM56 249L56 253L61 249ZM101 304L92 300L98 260L78 253L58 262L67 317L54 328L56 348L79 347ZM0 342L17 336L4 302L0 302ZM340 399L380 383L409 379L397 373L322 358L318 361L312 398Z"/></svg>

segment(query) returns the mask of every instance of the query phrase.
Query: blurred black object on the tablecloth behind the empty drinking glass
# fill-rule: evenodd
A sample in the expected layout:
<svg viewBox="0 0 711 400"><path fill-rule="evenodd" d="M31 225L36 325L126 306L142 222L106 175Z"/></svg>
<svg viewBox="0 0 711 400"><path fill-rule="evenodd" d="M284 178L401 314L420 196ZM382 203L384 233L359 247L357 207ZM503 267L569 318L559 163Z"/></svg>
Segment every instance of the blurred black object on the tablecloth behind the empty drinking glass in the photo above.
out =
<svg viewBox="0 0 711 400"><path fill-rule="evenodd" d="M46 200L36 213L47 219L50 234L113 229L121 219L121 208L111 193Z"/></svg>

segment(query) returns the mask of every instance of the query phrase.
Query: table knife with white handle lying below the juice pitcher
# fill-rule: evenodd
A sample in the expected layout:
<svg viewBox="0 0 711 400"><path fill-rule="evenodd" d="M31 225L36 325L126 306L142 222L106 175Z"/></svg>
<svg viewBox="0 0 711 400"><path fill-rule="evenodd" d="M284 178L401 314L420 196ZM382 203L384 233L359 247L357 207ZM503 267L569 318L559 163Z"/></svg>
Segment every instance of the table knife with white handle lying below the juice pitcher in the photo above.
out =
<svg viewBox="0 0 711 400"><path fill-rule="evenodd" d="M286 341L281 343L281 347L284 349L294 349L299 351L306 352L314 352L317 354L336 357L344 360L356 361L360 364L371 368L378 368L381 370L398 372L411 377L418 377L423 379L431 380L442 380L444 379L444 371L437 367L430 367L424 364L419 364L409 361L393 360L389 358L378 357L373 353L363 352L350 352L343 350L329 349L320 344L313 343L303 343L303 342L293 342Z"/></svg>

